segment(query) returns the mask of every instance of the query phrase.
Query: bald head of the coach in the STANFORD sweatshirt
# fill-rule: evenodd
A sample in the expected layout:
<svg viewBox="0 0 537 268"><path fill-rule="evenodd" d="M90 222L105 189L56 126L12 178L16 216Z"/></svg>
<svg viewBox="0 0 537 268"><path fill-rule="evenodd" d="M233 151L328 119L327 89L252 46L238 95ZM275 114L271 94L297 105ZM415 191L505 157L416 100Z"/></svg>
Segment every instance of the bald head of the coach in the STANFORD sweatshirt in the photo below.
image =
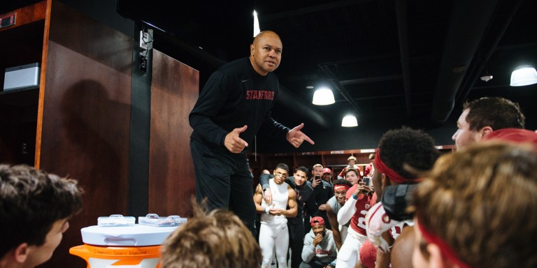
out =
<svg viewBox="0 0 537 268"><path fill-rule="evenodd" d="M282 40L273 31L262 31L250 45L250 63L259 75L267 75L278 66L282 58Z"/></svg>

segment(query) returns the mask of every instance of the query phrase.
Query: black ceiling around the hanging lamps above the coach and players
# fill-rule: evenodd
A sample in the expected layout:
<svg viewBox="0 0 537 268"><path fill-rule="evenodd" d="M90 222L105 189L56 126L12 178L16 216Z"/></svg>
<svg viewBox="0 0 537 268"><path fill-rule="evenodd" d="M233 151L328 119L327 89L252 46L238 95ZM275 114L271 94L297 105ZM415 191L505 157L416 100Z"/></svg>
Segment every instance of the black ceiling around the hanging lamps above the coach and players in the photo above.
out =
<svg viewBox="0 0 537 268"><path fill-rule="evenodd" d="M155 47L199 69L202 86L220 64L248 56L255 8L261 29L282 39L273 117L287 126L334 128L352 113L359 127L403 120L430 128L482 96L510 98L537 115L537 85L509 86L514 68L537 66L534 0L115 1L124 17L162 29ZM486 72L489 82L480 80ZM306 87L321 85L336 103L311 103Z"/></svg>

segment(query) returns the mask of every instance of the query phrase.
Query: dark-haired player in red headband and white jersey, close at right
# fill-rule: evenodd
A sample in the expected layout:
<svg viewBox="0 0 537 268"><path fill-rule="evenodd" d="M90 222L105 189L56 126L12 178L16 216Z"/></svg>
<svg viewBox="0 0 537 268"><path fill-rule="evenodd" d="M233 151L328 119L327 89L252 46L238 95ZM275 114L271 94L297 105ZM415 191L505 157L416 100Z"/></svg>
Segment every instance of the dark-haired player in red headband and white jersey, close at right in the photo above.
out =
<svg viewBox="0 0 537 268"><path fill-rule="evenodd" d="M389 209L383 204L385 200L399 202L394 196L396 193L389 191L390 187L417 184L420 181L417 171L430 170L438 156L439 152L434 146L434 140L423 131L400 128L388 131L380 139L373 162L375 166L373 185L375 192L382 199L381 202L371 207L366 216L368 239L380 248L377 253L376 267L389 267L392 262L389 247L394 244L394 241L396 241L394 246L403 245L401 246L403 252L410 254L412 251L413 240L407 241L407 239L413 238L411 227L413 223L394 221L388 216ZM389 198L391 200L388 200ZM405 230L408 234L405 234ZM398 237L399 234L401 234L400 237ZM406 261L400 267L410 267L408 255L402 259L394 258L393 261L394 263Z"/></svg>

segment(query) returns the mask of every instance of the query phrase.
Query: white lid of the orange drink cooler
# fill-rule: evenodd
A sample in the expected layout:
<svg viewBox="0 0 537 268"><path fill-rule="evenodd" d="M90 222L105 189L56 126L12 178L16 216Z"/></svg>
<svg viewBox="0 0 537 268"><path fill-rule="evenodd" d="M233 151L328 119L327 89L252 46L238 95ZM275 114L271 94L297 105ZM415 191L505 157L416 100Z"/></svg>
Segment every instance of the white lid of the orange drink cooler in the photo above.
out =
<svg viewBox="0 0 537 268"><path fill-rule="evenodd" d="M155 227L149 225L90 226L80 229L82 241L96 246L156 246L178 226Z"/></svg>

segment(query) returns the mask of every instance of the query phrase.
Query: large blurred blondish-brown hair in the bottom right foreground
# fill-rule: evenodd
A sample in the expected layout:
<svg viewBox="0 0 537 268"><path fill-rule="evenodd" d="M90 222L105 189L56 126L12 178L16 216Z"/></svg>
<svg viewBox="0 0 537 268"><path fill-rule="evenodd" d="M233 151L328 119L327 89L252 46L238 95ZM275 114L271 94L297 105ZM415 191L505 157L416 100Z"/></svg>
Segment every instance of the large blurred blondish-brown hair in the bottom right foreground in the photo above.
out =
<svg viewBox="0 0 537 268"><path fill-rule="evenodd" d="M415 193L419 223L470 267L537 267L536 166L531 147L499 142L441 156Z"/></svg>

